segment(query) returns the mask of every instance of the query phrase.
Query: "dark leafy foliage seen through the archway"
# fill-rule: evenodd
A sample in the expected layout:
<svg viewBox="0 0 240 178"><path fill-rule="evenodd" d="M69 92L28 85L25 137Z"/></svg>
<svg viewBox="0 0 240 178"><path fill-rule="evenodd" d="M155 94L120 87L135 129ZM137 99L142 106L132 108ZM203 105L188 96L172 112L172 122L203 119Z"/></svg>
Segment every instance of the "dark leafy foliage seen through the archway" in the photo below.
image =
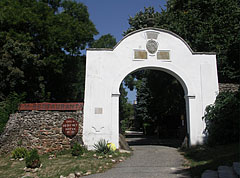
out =
<svg viewBox="0 0 240 178"><path fill-rule="evenodd" d="M185 114L184 91L171 75L145 70L138 78L136 118L145 134L154 134L168 127L177 129Z"/></svg>

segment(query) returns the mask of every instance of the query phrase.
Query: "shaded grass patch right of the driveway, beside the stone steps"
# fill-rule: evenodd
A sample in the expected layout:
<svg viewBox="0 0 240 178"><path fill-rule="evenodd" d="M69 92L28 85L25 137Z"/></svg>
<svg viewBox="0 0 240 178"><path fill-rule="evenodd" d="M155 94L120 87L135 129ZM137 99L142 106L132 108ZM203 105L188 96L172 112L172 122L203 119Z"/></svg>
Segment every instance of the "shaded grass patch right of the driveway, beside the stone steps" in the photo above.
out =
<svg viewBox="0 0 240 178"><path fill-rule="evenodd" d="M217 170L218 166L232 166L240 160L239 143L215 147L196 146L180 150L186 158L184 166L188 167L193 178L200 178L207 170Z"/></svg>

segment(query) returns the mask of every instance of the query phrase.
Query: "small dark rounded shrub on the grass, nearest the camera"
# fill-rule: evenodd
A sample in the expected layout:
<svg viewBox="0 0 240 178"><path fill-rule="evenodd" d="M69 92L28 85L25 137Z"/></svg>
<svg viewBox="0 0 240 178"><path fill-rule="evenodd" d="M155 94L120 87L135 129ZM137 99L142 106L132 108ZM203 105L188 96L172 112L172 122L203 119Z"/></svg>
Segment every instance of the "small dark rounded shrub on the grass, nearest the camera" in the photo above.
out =
<svg viewBox="0 0 240 178"><path fill-rule="evenodd" d="M41 161L36 149L33 149L28 152L26 159L26 167L28 168L38 168L41 165Z"/></svg>

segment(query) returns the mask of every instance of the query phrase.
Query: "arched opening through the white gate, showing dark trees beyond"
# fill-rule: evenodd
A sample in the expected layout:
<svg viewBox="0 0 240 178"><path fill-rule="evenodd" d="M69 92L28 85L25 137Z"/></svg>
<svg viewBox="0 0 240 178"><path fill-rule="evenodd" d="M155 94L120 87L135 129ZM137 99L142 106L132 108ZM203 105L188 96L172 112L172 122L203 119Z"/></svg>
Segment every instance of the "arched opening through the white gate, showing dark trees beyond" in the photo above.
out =
<svg viewBox="0 0 240 178"><path fill-rule="evenodd" d="M136 89L136 101L126 103L123 85ZM188 90L177 74L160 67L142 67L130 72L119 90L119 132L130 145L179 147L185 141L188 146Z"/></svg>

